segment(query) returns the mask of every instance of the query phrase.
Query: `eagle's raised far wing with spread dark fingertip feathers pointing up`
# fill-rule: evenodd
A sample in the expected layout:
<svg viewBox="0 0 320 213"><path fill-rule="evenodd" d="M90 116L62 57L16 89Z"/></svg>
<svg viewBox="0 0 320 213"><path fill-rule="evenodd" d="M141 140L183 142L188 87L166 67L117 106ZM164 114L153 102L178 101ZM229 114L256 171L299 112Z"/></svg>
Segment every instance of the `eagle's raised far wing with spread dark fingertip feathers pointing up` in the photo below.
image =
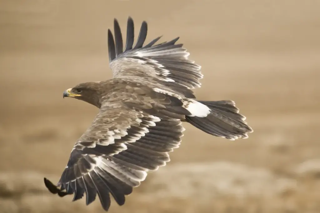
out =
<svg viewBox="0 0 320 213"><path fill-rule="evenodd" d="M108 49L110 67L113 77L138 76L155 77L162 82L171 83L169 87L200 87L203 77L200 66L188 59L189 53L183 44L175 44L179 37L169 42L154 45L161 36L147 45L147 23L142 22L137 43L134 42L134 24L131 17L127 23L126 45L123 50L122 34L118 21L114 20L115 41L111 30L108 30Z"/></svg>

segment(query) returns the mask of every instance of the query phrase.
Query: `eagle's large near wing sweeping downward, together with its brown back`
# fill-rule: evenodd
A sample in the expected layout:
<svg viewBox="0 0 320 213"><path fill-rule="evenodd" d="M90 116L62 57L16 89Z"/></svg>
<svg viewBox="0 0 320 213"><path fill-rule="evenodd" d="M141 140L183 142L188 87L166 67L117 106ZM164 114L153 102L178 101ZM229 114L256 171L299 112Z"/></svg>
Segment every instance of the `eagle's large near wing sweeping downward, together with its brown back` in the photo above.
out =
<svg viewBox="0 0 320 213"><path fill-rule="evenodd" d="M110 193L123 205L124 195L140 185L148 170L170 161L168 152L179 146L183 136L179 116L187 113L172 96L121 79L112 81L117 86L104 97L91 126L76 141L58 184L44 179L52 193L74 193L73 201L85 193L87 205L98 194L106 211ZM172 114L177 118L168 116Z"/></svg>

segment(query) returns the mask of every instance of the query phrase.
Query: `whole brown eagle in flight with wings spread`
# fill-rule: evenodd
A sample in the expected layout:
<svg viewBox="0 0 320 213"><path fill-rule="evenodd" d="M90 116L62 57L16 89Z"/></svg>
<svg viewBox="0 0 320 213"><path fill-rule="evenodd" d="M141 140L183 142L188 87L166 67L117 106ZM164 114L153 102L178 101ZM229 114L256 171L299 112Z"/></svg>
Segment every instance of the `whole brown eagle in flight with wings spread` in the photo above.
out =
<svg viewBox="0 0 320 213"><path fill-rule="evenodd" d="M192 89L201 86L200 68L188 59L179 37L144 45L148 25L143 21L134 45L134 23L127 20L124 46L119 23L114 37L108 29L109 66L113 78L80 83L63 92L99 108L91 125L76 140L59 182L44 184L60 197L73 200L86 194L86 205L99 197L108 211L111 197L121 206L125 195L145 180L148 171L170 161L185 130L182 122L217 137L248 138L252 128L232 100L196 100Z"/></svg>

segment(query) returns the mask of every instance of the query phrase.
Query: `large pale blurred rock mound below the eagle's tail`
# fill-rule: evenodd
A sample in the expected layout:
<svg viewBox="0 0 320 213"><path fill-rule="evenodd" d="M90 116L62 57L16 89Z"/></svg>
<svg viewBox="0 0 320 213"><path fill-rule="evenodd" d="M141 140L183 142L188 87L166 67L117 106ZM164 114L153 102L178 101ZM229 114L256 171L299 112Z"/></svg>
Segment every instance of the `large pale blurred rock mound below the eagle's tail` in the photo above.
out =
<svg viewBox="0 0 320 213"><path fill-rule="evenodd" d="M148 197L193 197L199 201L220 196L275 196L296 188L294 180L230 162L168 165L147 177L147 182L143 189Z"/></svg>

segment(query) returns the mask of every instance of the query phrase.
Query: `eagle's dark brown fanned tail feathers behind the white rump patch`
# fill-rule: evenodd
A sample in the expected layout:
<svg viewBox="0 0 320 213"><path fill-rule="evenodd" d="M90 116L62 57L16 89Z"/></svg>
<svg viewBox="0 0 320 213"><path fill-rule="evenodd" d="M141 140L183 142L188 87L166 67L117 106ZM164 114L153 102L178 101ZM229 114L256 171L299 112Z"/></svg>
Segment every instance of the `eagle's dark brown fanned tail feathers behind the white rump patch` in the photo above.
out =
<svg viewBox="0 0 320 213"><path fill-rule="evenodd" d="M202 116L189 115L186 121L196 128L222 138L235 140L248 138L247 133L253 132L252 128L244 121L245 116L239 114L239 109L232 100L197 101L202 109L208 107L210 113ZM201 110L199 108L199 110Z"/></svg>

